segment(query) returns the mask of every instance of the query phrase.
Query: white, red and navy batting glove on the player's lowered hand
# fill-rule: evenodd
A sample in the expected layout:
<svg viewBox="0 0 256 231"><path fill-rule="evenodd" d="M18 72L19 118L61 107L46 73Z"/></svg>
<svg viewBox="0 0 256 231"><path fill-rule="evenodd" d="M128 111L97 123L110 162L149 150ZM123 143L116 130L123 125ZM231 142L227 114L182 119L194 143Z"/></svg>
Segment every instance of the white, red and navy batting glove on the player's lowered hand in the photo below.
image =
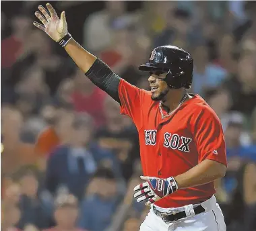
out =
<svg viewBox="0 0 256 231"><path fill-rule="evenodd" d="M145 205L151 205L156 201L174 193L178 190L177 182L173 177L160 179L156 177L140 177L146 180L144 183L137 185L134 190L134 198L137 202L145 202Z"/></svg>

